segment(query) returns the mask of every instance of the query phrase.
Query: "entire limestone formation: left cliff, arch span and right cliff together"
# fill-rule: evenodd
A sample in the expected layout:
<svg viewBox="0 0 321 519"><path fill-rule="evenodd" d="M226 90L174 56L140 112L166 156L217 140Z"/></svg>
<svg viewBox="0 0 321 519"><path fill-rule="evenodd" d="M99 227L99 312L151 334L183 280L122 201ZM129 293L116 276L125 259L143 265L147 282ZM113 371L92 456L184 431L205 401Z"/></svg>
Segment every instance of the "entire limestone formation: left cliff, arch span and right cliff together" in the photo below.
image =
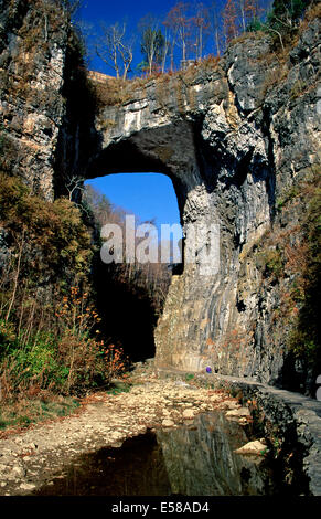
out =
<svg viewBox="0 0 321 519"><path fill-rule="evenodd" d="M20 17L12 18L13 4L20 6ZM51 24L49 50L33 61L29 84L36 97L54 95L35 105L17 91L24 77L17 65L26 38L21 28L31 4L1 2L7 25L0 63L13 82L13 89L2 92L3 127L20 157L12 159L11 170L49 197L66 192L75 178L168 174L184 230L191 223L218 224L221 254L218 272L204 275L196 261L185 262L173 276L156 330L158 366L211 366L291 389L311 388L309 377L319 367L308 369L292 359L290 320L277 318L293 276L287 265L281 280L268 276L261 254L268 241L277 254L271 242L281 231L295 233L302 203L281 213L279 201L291 200L290 191L320 165L320 21L303 27L281 61L267 36L248 35L218 63L142 82L118 93L117 102L113 82L92 74L90 82L107 94L96 105L79 63L68 59L68 30ZM79 84L83 100L75 94ZM204 245L199 244L199 257Z"/></svg>

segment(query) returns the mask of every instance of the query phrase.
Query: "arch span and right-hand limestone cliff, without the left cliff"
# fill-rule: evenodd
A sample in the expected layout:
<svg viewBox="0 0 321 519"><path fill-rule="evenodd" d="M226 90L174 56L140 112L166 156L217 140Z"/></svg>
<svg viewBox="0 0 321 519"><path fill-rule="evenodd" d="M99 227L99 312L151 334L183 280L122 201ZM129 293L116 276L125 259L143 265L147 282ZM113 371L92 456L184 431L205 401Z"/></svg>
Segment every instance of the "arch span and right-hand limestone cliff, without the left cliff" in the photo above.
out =
<svg viewBox="0 0 321 519"><path fill-rule="evenodd" d="M320 165L319 31L314 20L282 64L268 38L248 36L214 70L147 83L97 114L89 174L164 172L185 230L220 224L218 273L185 264L173 276L156 330L161 367L309 385L286 346L288 320L276 318L291 274L265 278L257 252L272 230L295 229L300 208L285 221L276 203Z"/></svg>

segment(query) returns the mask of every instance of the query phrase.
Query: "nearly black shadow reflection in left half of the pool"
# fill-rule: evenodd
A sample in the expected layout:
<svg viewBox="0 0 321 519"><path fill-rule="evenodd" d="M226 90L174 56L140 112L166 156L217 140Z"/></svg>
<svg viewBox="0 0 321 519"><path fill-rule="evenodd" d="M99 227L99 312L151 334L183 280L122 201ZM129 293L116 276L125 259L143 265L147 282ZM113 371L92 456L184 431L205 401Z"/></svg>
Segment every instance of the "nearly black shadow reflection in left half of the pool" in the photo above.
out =
<svg viewBox="0 0 321 519"><path fill-rule="evenodd" d="M162 451L152 433L82 455L38 496L170 496Z"/></svg>

